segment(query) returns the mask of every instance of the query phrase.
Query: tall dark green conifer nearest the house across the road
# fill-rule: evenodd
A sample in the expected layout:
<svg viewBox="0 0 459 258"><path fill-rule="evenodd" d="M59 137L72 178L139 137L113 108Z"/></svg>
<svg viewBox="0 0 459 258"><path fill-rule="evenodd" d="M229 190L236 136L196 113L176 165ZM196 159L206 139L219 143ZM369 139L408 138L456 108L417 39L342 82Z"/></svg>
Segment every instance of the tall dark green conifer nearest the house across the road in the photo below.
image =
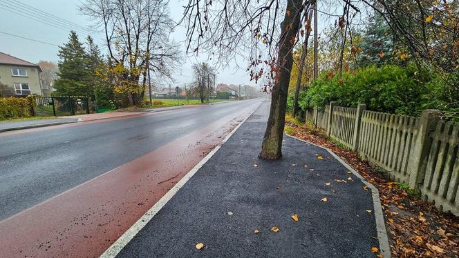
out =
<svg viewBox="0 0 459 258"><path fill-rule="evenodd" d="M55 81L54 88L59 95L84 95L92 96L93 88L88 83L91 71L88 69L88 54L77 33L71 31L68 42L59 46L60 58L59 79Z"/></svg>

